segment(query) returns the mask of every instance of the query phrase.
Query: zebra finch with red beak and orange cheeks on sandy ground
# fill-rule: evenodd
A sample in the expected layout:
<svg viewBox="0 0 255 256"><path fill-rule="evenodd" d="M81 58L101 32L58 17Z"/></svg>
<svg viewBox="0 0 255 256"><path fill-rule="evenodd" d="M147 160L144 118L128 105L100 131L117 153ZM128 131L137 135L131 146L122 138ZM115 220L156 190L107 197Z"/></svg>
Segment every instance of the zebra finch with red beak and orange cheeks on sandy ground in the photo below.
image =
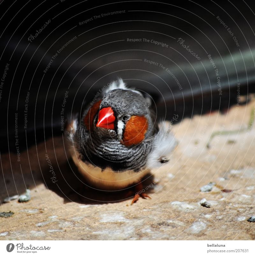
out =
<svg viewBox="0 0 255 256"><path fill-rule="evenodd" d="M106 191L134 186L131 205L140 197L150 198L141 181L167 163L176 146L170 122L156 117L150 97L121 79L80 114L71 114L65 135L73 162L87 182Z"/></svg>

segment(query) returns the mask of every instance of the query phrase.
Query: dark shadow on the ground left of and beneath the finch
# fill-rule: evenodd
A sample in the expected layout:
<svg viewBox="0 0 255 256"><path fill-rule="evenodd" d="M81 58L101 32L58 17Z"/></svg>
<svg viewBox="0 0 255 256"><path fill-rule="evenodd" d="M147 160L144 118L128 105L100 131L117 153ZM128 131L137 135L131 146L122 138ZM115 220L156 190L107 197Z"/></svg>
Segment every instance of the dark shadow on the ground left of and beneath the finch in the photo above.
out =
<svg viewBox="0 0 255 256"><path fill-rule="evenodd" d="M25 189L32 190L41 183L62 197L64 203L105 204L133 198L134 186L119 191L102 191L90 186L64 149L62 137L55 137L21 152L21 161L17 161L13 153L2 155L0 201L3 202L8 196L20 195ZM146 187L152 182L153 175L148 175L143 185Z"/></svg>

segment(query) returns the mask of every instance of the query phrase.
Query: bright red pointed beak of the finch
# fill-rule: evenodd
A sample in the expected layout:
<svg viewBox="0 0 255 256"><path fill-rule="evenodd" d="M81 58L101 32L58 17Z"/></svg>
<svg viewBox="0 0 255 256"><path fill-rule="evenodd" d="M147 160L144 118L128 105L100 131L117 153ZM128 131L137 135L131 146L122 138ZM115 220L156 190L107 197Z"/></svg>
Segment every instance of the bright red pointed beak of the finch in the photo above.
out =
<svg viewBox="0 0 255 256"><path fill-rule="evenodd" d="M115 116L111 107L102 108L98 113L98 123L96 127L114 130Z"/></svg>

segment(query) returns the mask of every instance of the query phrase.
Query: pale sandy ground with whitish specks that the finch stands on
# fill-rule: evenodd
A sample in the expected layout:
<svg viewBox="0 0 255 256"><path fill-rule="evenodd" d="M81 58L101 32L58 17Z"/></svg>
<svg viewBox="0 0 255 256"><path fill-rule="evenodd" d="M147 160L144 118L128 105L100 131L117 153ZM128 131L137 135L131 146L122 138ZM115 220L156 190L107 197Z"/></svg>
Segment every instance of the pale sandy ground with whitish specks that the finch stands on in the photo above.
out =
<svg viewBox="0 0 255 256"><path fill-rule="evenodd" d="M148 191L152 199L139 199L133 206L131 199L120 200L121 193L105 195L77 185L77 178L70 178L75 176L70 167L65 167L62 137L54 138L55 152L52 140L46 143L57 185L50 182L44 143L29 149L30 165L27 152L22 153L21 169L15 155L11 155L12 166L8 155L2 155L8 192L24 192L26 185L32 200L0 206L0 212L14 212L0 218L0 239L255 239L255 223L247 221L255 215L255 125L248 127L252 110L254 98L248 105L232 106L228 113L186 118L174 125L179 145L170 163L153 171L148 183L159 181ZM41 172L48 187L41 182ZM208 182L216 183L214 189L200 192ZM2 200L6 196L3 177L0 186ZM72 190L82 195L77 197ZM210 208L200 206L202 198Z"/></svg>

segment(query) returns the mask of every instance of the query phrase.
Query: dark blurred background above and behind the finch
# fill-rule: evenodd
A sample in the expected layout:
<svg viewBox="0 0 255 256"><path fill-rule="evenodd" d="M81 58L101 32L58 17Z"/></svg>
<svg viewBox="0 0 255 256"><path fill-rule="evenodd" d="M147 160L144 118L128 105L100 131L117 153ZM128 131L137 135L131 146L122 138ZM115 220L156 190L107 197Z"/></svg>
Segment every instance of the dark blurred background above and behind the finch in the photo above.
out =
<svg viewBox="0 0 255 256"><path fill-rule="evenodd" d="M17 153L15 135L20 151L61 135L118 78L148 93L158 118L227 111L239 93L245 104L254 12L254 1L2 1L1 153Z"/></svg>

